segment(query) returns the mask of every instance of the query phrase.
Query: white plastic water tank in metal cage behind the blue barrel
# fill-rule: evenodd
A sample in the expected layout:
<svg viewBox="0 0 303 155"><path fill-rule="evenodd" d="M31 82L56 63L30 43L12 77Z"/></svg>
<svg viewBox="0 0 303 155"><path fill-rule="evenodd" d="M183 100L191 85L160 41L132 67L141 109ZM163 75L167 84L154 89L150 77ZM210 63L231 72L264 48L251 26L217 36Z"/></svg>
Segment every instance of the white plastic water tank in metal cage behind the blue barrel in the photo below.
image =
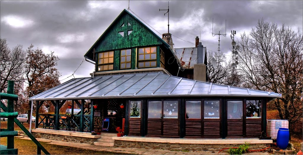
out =
<svg viewBox="0 0 303 155"><path fill-rule="evenodd" d="M272 140L277 139L279 128L288 129L288 120L267 120L267 136L271 137Z"/></svg>

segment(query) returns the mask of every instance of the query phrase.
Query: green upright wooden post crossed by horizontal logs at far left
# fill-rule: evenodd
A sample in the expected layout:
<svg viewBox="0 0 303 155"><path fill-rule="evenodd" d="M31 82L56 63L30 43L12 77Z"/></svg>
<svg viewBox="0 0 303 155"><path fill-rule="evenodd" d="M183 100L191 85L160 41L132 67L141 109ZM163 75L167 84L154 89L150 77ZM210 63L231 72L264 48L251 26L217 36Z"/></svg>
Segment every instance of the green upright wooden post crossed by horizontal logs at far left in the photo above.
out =
<svg viewBox="0 0 303 155"><path fill-rule="evenodd" d="M11 80L8 81L7 93L14 94L14 81L11 81ZM10 99L7 100L7 112L8 113L14 112L14 101L13 100L10 100ZM12 118L12 117L9 117L7 120L7 130L14 131L14 118ZM14 148L14 136L7 137L7 148L8 149Z"/></svg>

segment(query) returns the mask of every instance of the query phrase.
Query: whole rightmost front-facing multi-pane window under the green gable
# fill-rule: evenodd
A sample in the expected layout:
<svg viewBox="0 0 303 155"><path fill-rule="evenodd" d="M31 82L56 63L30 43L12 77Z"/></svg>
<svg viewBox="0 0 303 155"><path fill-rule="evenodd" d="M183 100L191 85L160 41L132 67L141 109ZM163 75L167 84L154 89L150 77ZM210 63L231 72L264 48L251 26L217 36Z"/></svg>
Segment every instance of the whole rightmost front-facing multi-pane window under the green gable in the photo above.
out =
<svg viewBox="0 0 303 155"><path fill-rule="evenodd" d="M156 47L145 47L139 48L138 67L156 67L157 59L157 48Z"/></svg>

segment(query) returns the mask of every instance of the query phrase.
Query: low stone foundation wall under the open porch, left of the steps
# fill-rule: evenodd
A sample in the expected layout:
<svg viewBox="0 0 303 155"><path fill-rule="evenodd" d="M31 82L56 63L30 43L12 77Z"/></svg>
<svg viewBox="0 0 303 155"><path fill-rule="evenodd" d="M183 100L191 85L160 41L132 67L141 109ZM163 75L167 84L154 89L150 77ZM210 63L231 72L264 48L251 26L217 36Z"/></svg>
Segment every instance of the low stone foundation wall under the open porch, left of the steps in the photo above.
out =
<svg viewBox="0 0 303 155"><path fill-rule="evenodd" d="M49 133L36 133L32 132L32 135L35 138L43 138L49 140L59 140L63 142L72 142L72 143L85 143L85 144L94 144L97 141L97 138L86 138L86 137L75 137L75 136L65 136Z"/></svg>

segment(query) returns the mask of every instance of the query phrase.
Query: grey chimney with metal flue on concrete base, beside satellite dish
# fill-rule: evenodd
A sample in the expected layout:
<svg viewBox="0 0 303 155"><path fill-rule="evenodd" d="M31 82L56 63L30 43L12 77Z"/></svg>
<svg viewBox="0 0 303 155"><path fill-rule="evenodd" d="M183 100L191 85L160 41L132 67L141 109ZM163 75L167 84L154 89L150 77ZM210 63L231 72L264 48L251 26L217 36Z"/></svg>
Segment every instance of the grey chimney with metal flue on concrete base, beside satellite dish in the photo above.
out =
<svg viewBox="0 0 303 155"><path fill-rule="evenodd" d="M204 64L203 45L201 42L197 46L197 56L197 64L194 64L194 80L206 82L206 65Z"/></svg>

